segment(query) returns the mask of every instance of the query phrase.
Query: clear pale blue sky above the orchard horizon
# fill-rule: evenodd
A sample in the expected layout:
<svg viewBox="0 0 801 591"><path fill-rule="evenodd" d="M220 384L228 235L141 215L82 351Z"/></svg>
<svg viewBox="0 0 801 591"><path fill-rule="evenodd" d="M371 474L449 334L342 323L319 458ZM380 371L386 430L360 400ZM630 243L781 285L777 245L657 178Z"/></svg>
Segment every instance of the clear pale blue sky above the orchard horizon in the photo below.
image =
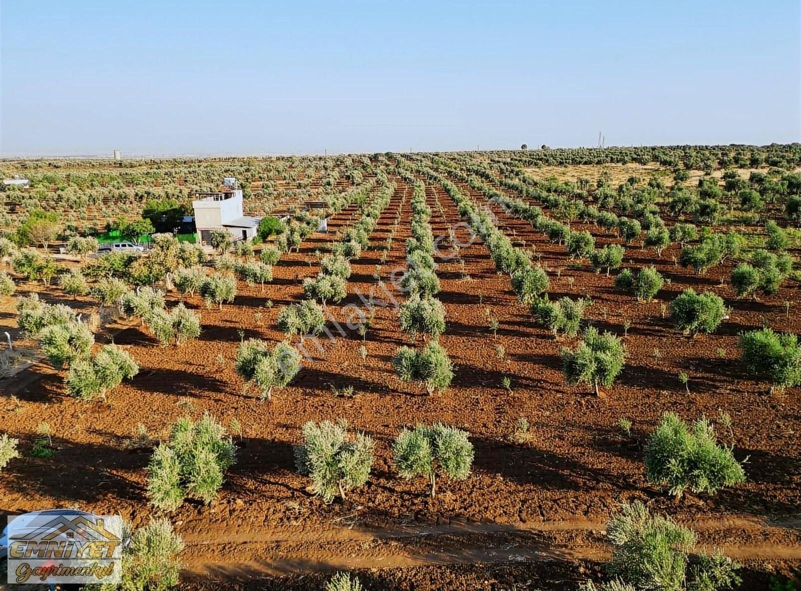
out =
<svg viewBox="0 0 801 591"><path fill-rule="evenodd" d="M801 139L799 2L0 0L0 154Z"/></svg>

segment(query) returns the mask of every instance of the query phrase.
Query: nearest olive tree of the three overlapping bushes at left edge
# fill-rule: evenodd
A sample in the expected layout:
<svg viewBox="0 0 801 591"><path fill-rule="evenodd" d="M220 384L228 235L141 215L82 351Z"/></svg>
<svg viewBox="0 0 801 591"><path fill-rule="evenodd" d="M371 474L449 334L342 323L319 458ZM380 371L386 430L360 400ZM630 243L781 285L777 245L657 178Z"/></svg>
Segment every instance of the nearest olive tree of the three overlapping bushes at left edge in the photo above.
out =
<svg viewBox="0 0 801 591"><path fill-rule="evenodd" d="M90 359L75 360L66 375L66 393L80 400L106 397L106 392L131 380L139 372L139 365L127 351L116 345L104 345Z"/></svg>

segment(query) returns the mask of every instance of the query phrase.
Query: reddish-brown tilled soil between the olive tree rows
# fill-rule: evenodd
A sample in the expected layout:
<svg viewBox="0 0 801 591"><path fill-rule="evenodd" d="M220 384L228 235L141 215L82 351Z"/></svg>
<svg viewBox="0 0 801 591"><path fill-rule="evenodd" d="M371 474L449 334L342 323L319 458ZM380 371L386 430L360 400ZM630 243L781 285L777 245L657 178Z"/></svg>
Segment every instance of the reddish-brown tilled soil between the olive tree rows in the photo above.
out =
<svg viewBox="0 0 801 591"><path fill-rule="evenodd" d="M387 304L404 298L388 281L392 270L405 266L409 236L411 187L397 182L371 237L374 247L384 243L400 216L392 249L377 271L388 292L373 276L381 251L372 248L352 264L348 298L328 305L340 320L345 320L346 304L361 304L358 293L369 299L372 291ZM456 207L440 187L428 187L427 194L434 234L447 235L449 224L460 221ZM195 342L163 348L138 323L107 327L99 341L113 335L141 365L135 380L116 388L107 402L70 399L62 377L44 366L3 383L4 391L18 400L2 400L0 431L22 440L24 457L3 471L0 512L77 505L101 514L122 513L135 525L146 523L155 514L145 497L151 450L133 444L137 425L145 425L155 442L180 416L208 411L223 424L239 420L244 434L218 500L208 507L187 502L171 515L187 540L187 577L205 589L219 588L213 582L218 579L234 585L239 577L384 565L398 568L362 572L369 589L506 589L512 582L559 589L598 568L586 561L606 555L604 524L620 503L632 499L698 526L702 543L723 545L743 559L801 560L798 392L768 396L767 384L743 374L737 350L738 333L763 322L779 330L801 330L799 286L788 283L759 302L737 300L731 287L721 285L731 272L729 264L696 277L674 266L674 249L657 258L653 251L630 247L626 264L654 264L670 279L657 301L638 303L615 291L612 277L571 263L563 247L547 243L528 223L497 207L494 211L504 231L541 254L550 271L552 299L590 296L594 305L587 316L593 324L621 335L624 321L630 321L626 368L605 396L566 386L559 353L575 341L554 340L533 324L508 276L495 272L477 240L441 261L437 271L438 297L448 320L441 343L456 364L453 384L445 392L426 396L423 388L394 376L391 356L409 338L399 331L395 308L388 305L376 308L364 340L365 360L355 331L345 328L343 336L332 328L332 340L320 337L321 351L307 340L313 358L292 384L274 391L272 401L261 402L235 374L237 345L242 338L283 338L275 327L280 308L303 298L301 280L318 270L315 251L323 251L337 228L358 219L351 207L331 220L328 235L312 235L300 253L284 255L264 291L240 283L235 303L222 311L191 299L187 304L203 313L203 334ZM588 228L599 243L614 239ZM464 227L457 234L468 239ZM686 287L723 295L733 308L714 335L690 339L662 317L661 304ZM20 291L27 289L66 299L57 287L23 285ZM0 312L6 327L14 326L11 304L6 300ZM91 304L81 307L89 310ZM499 322L497 335L490 330L493 318ZM505 349L503 359L499 345ZM42 378L31 380L36 372ZM678 381L679 372L690 375L689 395ZM504 377L511 380L510 390L501 385ZM353 388L352 397L334 395L347 387ZM733 432L719 425L718 433L734 444L735 456L748 458L747 483L678 504L650 486L643 477L643 445L666 411L713 420L728 412ZM509 444L507 436L521 416L531 425L530 443ZM631 438L617 426L624 416L634 422ZM296 473L292 445L305 421L340 417L376 440L376 463L368 484L352 491L347 501L326 505L308 493L308 480ZM424 481L396 476L391 444L404 426L435 420L467 429L476 459L467 480L441 480L431 499ZM58 448L51 460L28 454L42 421L50 424ZM316 589L319 577L260 580L240 588Z"/></svg>

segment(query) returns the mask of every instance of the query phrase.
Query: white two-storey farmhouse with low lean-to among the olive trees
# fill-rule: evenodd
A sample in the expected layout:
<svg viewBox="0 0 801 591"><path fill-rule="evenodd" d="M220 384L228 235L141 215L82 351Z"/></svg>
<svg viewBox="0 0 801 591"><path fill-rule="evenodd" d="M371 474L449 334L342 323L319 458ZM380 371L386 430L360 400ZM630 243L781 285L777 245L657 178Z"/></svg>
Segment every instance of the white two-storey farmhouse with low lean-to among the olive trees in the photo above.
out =
<svg viewBox="0 0 801 591"><path fill-rule="evenodd" d="M261 218L244 215L242 190L235 179L223 179L219 191L192 194L195 226L201 244L210 243L211 231L223 228L235 240L251 239L256 235Z"/></svg>

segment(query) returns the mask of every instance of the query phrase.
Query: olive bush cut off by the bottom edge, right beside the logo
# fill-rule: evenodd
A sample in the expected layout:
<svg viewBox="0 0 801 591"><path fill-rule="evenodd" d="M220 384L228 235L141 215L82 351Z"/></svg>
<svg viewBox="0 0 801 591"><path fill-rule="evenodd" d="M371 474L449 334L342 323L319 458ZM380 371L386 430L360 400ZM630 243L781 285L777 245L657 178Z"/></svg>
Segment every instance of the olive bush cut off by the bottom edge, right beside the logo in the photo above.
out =
<svg viewBox="0 0 801 591"><path fill-rule="evenodd" d="M135 530L130 541L126 538L120 561L123 591L166 591L179 584L183 540L169 520L154 519Z"/></svg>

